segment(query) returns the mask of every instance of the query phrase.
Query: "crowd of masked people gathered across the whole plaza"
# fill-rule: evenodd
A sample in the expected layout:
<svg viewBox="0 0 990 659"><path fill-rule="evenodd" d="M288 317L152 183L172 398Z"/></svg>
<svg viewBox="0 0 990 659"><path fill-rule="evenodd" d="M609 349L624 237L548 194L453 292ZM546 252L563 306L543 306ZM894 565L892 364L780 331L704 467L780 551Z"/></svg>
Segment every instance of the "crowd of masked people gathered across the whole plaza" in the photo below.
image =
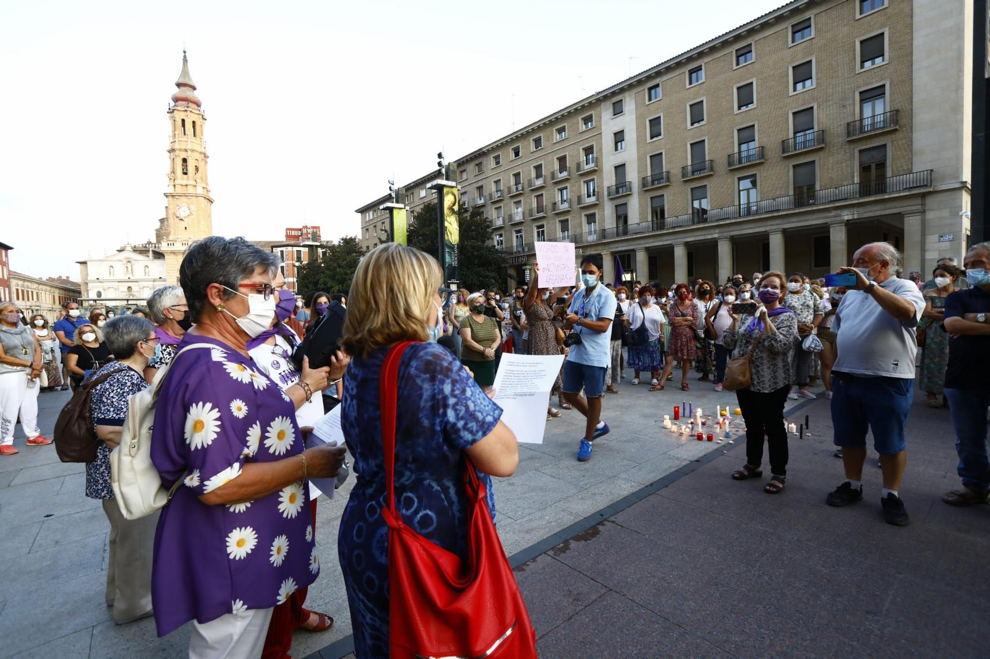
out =
<svg viewBox="0 0 990 659"><path fill-rule="evenodd" d="M100 442L83 494L101 501L111 528L105 600L114 621L153 614L162 635L192 621L192 657L284 657L294 629L334 624L305 608L320 572L318 497L334 494L308 481L339 476L349 453L357 476L338 546L354 645L358 656L387 656L389 515L466 559L464 461L477 470L493 520L491 477L515 472L516 438L491 400L505 353L564 356L546 420L569 410L585 418L581 462L610 432L602 401L622 393L627 371L631 386L650 392L664 391L675 368L678 395L690 390L692 367L715 391L730 386L746 428L745 463L731 476L761 478L765 445L763 489L774 495L786 488L787 400L816 398L819 378L844 476L827 503L862 499L871 432L883 517L897 525L909 522L899 489L917 362L928 404L948 407L956 434L962 488L943 501L988 503L990 243L969 249L964 273L940 261L930 282L900 278L900 259L888 243L863 245L839 271L845 286L768 271L720 284L615 287L603 282L601 256L586 254L575 286L542 286L534 262L531 281L506 296L447 291L433 257L389 243L361 259L347 294L299 297L272 253L211 236L188 249L181 286L154 291L147 308L83 317L70 302L49 328L46 318L0 303L0 454L17 453L18 418L29 446L50 443L38 430L40 391L84 392ZM332 319L342 329L326 363L311 367L307 346L327 340ZM395 412L401 441L386 456L380 374L407 341ZM727 373L736 377L743 358L740 387ZM155 409L150 450L173 494L160 511L129 519L114 501L110 455L131 397L148 387L166 403ZM311 437L338 405L346 449Z"/></svg>

